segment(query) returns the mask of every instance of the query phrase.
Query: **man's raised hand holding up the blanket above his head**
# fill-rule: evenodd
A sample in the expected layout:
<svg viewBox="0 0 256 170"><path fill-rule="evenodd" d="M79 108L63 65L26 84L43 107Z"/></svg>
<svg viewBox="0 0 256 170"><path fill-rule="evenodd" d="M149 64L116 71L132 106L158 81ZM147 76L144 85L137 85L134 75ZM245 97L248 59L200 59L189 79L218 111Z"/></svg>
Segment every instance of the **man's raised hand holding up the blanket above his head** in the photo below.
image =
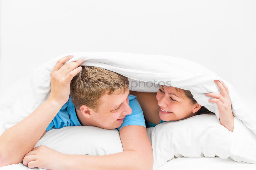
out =
<svg viewBox="0 0 256 170"><path fill-rule="evenodd" d="M80 66L84 59L66 63L73 58L73 55L65 56L58 60L55 67L51 72L51 93L49 100L57 101L58 103L65 104L69 99L70 82L75 75L77 75L82 67Z"/></svg>

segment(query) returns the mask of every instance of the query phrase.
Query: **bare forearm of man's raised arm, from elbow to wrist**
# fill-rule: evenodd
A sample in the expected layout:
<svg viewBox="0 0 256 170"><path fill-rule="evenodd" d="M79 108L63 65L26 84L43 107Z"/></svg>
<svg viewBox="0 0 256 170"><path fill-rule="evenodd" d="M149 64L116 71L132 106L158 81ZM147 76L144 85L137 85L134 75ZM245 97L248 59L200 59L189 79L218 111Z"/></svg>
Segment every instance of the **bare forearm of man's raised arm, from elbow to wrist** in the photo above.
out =
<svg viewBox="0 0 256 170"><path fill-rule="evenodd" d="M0 136L0 165L22 162L61 107L61 104L47 100L24 120L7 129Z"/></svg>

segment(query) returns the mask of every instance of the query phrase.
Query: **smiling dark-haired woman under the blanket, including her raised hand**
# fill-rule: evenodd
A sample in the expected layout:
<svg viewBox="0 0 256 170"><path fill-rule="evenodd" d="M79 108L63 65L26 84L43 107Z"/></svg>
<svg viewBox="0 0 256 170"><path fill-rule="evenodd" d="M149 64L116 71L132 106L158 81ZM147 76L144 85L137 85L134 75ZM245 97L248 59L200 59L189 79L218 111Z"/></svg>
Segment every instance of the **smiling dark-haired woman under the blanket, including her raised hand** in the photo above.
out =
<svg viewBox="0 0 256 170"><path fill-rule="evenodd" d="M220 94L206 93L212 97L209 102L217 104L220 123L233 132L234 116L227 86L218 80L214 81L220 89ZM137 96L144 112L148 127L154 127L165 121L178 121L198 114L214 114L201 106L193 98L189 90L160 85L157 93L130 91Z"/></svg>

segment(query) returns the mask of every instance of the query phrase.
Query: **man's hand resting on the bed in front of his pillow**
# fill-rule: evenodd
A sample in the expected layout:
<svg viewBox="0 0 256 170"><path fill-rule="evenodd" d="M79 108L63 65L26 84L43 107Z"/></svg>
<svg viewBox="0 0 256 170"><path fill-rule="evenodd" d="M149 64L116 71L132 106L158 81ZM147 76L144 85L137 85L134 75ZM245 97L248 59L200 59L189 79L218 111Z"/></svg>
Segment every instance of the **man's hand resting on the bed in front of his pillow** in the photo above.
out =
<svg viewBox="0 0 256 170"><path fill-rule="evenodd" d="M23 164L29 168L62 169L62 162L65 162L65 154L41 145L28 152Z"/></svg>

